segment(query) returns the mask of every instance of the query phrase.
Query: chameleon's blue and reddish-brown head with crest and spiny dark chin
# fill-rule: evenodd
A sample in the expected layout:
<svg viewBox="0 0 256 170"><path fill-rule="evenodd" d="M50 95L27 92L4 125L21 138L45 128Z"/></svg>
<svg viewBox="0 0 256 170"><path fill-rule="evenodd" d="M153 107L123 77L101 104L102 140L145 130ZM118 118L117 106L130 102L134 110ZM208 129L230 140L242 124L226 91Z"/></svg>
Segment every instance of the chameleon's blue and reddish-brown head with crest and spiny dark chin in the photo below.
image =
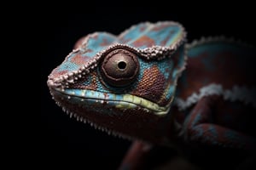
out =
<svg viewBox="0 0 256 170"><path fill-rule="evenodd" d="M175 22L142 23L118 37L90 34L50 73L50 93L70 116L102 130L148 140L165 136L162 119L172 117L185 36Z"/></svg>

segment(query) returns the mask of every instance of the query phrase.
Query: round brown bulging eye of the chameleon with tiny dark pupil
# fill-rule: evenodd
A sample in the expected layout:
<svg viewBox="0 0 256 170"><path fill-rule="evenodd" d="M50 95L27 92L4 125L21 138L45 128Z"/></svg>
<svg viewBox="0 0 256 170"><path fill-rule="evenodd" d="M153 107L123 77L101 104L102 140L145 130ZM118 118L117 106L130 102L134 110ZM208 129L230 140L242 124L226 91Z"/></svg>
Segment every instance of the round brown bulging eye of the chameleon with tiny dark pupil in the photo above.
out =
<svg viewBox="0 0 256 170"><path fill-rule="evenodd" d="M102 61L101 74L105 82L115 87L124 87L137 78L139 62L137 55L125 49L115 49Z"/></svg>

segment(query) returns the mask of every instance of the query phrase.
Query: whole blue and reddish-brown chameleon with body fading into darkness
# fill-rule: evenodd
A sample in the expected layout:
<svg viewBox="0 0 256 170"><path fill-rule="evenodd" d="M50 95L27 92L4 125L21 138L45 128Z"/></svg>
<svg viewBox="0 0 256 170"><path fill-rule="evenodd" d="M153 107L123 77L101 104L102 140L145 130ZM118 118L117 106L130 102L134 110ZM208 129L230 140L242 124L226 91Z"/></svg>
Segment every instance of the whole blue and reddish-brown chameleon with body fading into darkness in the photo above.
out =
<svg viewBox="0 0 256 170"><path fill-rule="evenodd" d="M68 116L134 141L120 169L144 143L253 153L255 57L225 37L189 43L176 21L142 22L80 38L47 84Z"/></svg>

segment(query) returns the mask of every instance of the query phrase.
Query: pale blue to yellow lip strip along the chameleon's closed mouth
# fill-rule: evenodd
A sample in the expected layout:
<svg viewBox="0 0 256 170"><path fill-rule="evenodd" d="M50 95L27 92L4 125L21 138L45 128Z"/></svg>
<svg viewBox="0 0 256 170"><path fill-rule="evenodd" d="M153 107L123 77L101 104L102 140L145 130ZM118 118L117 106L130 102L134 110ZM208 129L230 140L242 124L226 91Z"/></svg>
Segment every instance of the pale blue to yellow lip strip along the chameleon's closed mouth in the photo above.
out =
<svg viewBox="0 0 256 170"><path fill-rule="evenodd" d="M107 104L120 110L141 107L148 112L153 112L155 115L166 115L170 109L169 105L160 106L148 99L143 99L131 94L108 94L93 90L61 88L55 88L55 91L64 94L67 96L67 99L75 97L83 102L88 101L90 103Z"/></svg>

